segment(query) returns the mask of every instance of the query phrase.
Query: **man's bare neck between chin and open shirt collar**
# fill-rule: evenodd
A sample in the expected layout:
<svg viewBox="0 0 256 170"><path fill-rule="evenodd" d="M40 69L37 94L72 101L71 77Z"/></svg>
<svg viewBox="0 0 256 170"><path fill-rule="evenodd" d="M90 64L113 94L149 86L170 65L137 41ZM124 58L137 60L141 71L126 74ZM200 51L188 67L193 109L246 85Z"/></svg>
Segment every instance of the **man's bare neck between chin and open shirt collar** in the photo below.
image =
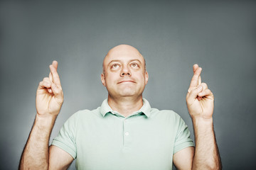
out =
<svg viewBox="0 0 256 170"><path fill-rule="evenodd" d="M138 98L132 97L122 97L122 98L112 98L110 95L107 98L107 103L110 105L113 111L128 117L132 115L135 111L139 111L143 106L142 96Z"/></svg>

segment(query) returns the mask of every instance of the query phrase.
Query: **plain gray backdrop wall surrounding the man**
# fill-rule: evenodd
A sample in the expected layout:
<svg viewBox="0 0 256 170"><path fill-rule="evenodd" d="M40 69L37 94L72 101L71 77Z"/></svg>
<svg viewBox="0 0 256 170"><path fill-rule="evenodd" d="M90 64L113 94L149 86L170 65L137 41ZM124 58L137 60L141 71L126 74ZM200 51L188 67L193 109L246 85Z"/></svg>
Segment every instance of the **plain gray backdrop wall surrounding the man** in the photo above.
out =
<svg viewBox="0 0 256 170"><path fill-rule="evenodd" d="M192 66L200 64L215 95L224 169L256 169L255 7L255 1L1 1L0 169L18 167L38 82L52 60L65 95L55 137L70 115L107 98L102 60L122 43L146 58L144 97L179 113L192 134L185 96Z"/></svg>

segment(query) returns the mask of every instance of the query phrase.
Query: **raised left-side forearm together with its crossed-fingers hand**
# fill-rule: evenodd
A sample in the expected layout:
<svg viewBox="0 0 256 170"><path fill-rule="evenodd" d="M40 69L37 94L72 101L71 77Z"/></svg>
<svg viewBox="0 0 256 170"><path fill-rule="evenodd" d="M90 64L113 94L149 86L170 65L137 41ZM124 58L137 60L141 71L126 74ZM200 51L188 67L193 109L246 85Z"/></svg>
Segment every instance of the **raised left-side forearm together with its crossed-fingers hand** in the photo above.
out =
<svg viewBox="0 0 256 170"><path fill-rule="evenodd" d="M63 91L57 67L58 62L53 61L53 64L50 65L49 77L45 77L39 83L36 91L36 119L23 149L19 169L48 169L50 132L63 104ZM56 152L55 150L53 152L61 151L57 149ZM62 157L68 157L69 164L73 160L66 152Z"/></svg>

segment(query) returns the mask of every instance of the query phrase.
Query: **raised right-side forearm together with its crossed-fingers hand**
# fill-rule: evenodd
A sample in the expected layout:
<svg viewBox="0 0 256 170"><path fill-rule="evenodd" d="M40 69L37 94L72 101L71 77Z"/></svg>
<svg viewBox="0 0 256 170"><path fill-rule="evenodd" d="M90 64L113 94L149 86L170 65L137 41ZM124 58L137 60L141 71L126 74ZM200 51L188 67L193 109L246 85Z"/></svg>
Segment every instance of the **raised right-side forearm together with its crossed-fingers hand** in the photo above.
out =
<svg viewBox="0 0 256 170"><path fill-rule="evenodd" d="M202 68L193 65L193 77L186 95L196 140L192 169L221 169L220 155L213 130L213 93L201 83Z"/></svg>

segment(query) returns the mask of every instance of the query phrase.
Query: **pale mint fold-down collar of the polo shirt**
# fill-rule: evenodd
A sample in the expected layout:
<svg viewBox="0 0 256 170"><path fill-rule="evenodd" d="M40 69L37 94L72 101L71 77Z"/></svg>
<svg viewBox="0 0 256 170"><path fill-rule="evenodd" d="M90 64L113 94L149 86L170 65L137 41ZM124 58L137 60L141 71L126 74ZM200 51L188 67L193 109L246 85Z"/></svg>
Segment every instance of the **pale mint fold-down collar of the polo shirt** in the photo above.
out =
<svg viewBox="0 0 256 170"><path fill-rule="evenodd" d="M143 106L139 109L139 111L133 113L132 115L138 114L138 113L144 113L146 117L150 116L151 106L149 104L149 101L147 101L145 98L143 100ZM109 104L107 103L107 98L102 102L102 105L100 106L100 113L103 115L103 117L107 113L114 113L115 111L110 108Z"/></svg>

